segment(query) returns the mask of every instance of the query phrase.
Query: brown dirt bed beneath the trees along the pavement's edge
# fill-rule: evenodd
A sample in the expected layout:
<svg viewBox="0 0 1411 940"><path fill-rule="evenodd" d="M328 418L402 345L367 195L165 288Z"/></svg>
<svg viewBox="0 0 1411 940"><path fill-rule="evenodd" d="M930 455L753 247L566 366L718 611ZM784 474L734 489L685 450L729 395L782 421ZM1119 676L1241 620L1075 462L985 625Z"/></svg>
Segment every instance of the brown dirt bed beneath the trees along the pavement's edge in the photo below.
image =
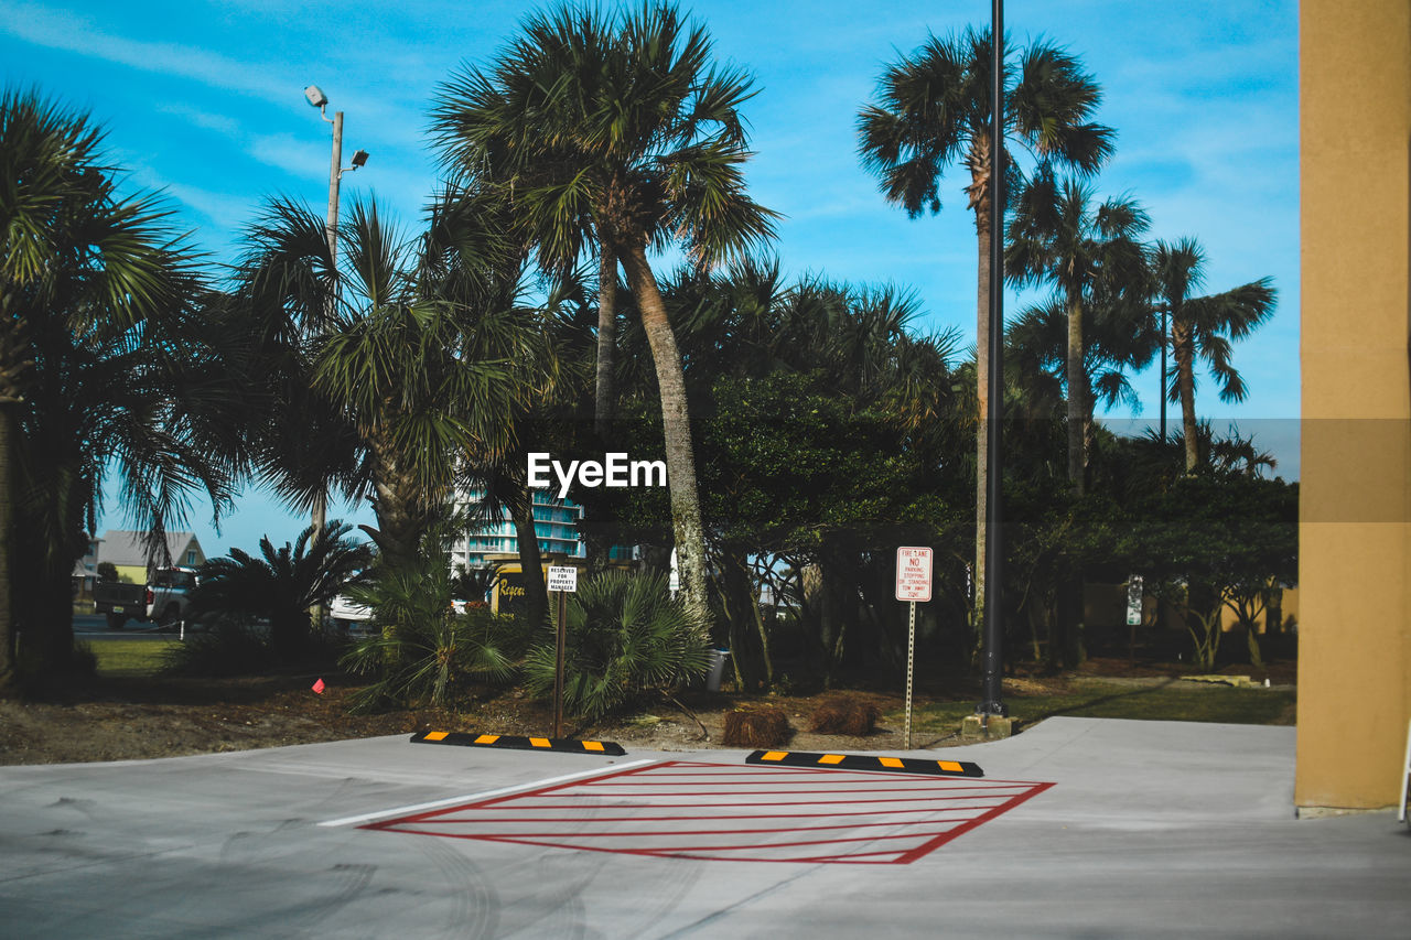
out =
<svg viewBox="0 0 1411 940"><path fill-rule="evenodd" d="M1249 669L1229 669L1243 672ZM1007 694L1061 692L1074 677L1160 680L1170 668L1092 659L1070 675L1015 675L1005 679ZM1294 682L1292 663L1280 663L1254 676L1276 685ZM99 677L62 690L47 700L0 700L0 765L126 761L247 748L313 744L347 738L411 734L413 731L494 731L535 734L550 731L547 709L522 692L509 690L464 703L460 710L409 709L351 716L357 686L341 676L286 675L261 679ZM974 700L972 677L938 680L919 687L916 703ZM680 751L722 747L724 716L739 704L766 703L785 710L793 727L789 747L803 751L889 751L904 747L902 694L847 693L882 711L878 730L866 737L813 734L814 706L828 693L810 696L738 696L693 692L649 706L631 720L601 725L566 727L566 737L611 740L625 747ZM835 693L834 693L835 694ZM697 724L697 720L700 724ZM703 734L701 724L707 734ZM916 734L916 747L958 744L951 735Z"/></svg>

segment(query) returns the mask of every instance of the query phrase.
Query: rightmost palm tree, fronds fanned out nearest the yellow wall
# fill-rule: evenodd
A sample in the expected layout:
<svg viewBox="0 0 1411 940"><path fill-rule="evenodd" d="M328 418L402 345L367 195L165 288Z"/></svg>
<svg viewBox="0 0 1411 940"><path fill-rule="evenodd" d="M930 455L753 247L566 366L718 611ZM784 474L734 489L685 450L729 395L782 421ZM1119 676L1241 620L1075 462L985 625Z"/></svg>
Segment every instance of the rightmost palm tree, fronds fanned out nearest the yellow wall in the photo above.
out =
<svg viewBox="0 0 1411 940"><path fill-rule="evenodd" d="M1260 278L1223 294L1192 296L1205 284L1205 253L1195 239L1157 241L1151 254L1156 312L1171 318L1170 344L1174 375L1163 375L1161 395L1181 402L1185 471L1199 464L1195 421L1195 360L1205 361L1219 382L1221 401L1243 401L1247 390L1230 364L1230 340L1249 336L1274 313L1276 291ZM1163 357L1164 358L1164 357ZM1171 382L1174 380L1174 382Z"/></svg>

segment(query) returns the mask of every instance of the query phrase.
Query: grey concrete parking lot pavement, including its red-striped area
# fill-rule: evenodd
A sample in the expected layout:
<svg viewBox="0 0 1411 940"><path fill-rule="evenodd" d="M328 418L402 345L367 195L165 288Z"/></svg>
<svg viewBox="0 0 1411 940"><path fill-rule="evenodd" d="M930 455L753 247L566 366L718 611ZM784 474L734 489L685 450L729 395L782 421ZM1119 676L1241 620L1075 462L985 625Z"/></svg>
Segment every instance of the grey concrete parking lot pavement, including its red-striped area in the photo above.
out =
<svg viewBox="0 0 1411 940"><path fill-rule="evenodd" d="M1411 936L1411 834L1295 820L1292 728L928 755L986 778L406 737L0 768L0 936Z"/></svg>

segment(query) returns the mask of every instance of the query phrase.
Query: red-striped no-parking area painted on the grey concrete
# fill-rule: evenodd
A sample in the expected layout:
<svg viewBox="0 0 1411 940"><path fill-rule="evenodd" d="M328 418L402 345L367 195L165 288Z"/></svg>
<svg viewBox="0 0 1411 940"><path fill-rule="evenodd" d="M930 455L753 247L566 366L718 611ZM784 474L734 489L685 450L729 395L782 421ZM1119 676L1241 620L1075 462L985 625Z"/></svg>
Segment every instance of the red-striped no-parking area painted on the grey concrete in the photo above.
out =
<svg viewBox="0 0 1411 940"><path fill-rule="evenodd" d="M670 858L896 865L1050 786L669 761L364 828Z"/></svg>

